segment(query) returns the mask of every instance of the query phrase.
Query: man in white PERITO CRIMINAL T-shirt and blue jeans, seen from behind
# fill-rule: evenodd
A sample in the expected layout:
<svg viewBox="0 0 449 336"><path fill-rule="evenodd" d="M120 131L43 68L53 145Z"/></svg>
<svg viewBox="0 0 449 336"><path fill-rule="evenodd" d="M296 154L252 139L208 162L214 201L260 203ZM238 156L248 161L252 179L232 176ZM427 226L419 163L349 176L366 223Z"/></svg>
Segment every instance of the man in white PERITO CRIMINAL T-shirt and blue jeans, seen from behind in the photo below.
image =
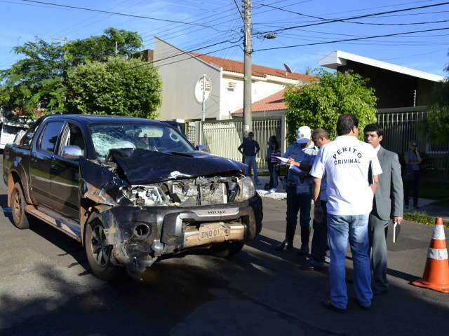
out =
<svg viewBox="0 0 449 336"><path fill-rule="evenodd" d="M356 116L341 115L337 120L337 134L337 138L320 148L310 171L315 179L314 201L319 202L323 177L328 191L330 300L323 304L337 312L347 309L345 277L349 238L354 264L354 292L360 307L368 310L373 300L368 219L382 168L373 146L358 141Z"/></svg>

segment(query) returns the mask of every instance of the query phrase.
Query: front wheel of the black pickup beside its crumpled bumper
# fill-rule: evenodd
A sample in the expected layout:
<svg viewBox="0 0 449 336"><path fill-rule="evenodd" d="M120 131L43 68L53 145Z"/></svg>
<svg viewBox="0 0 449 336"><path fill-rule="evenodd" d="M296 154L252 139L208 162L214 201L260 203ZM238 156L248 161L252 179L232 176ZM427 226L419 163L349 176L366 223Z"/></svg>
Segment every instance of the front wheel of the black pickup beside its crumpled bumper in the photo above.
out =
<svg viewBox="0 0 449 336"><path fill-rule="evenodd" d="M118 281L123 278L123 267L111 262L112 246L106 244L103 225L94 220L86 224L84 248L93 275L105 281Z"/></svg>

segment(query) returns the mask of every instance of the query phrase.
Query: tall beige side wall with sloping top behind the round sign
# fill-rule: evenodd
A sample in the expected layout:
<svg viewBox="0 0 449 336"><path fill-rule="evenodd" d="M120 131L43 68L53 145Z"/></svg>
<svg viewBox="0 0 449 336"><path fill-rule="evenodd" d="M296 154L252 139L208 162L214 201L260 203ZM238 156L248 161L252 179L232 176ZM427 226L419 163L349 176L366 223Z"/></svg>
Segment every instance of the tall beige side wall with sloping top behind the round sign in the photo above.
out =
<svg viewBox="0 0 449 336"><path fill-rule="evenodd" d="M171 57L173 55L175 57ZM158 59L166 57L171 58L157 62ZM154 38L154 60L162 80L162 105L158 117L160 120L201 119L201 103L196 102L194 87L204 73L210 78L212 87L206 102L206 118L220 118L219 68L189 57L188 54L182 53L182 50L159 38Z"/></svg>

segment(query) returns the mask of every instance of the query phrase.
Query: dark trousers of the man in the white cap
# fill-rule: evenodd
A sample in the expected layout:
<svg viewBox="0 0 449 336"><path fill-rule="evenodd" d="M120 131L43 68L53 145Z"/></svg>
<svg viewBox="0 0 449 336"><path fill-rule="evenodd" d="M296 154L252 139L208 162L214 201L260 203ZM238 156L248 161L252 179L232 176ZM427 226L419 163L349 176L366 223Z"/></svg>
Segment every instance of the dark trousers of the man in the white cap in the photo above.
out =
<svg viewBox="0 0 449 336"><path fill-rule="evenodd" d="M293 244L297 224L297 211L300 211L301 248L309 248L311 195L297 193L296 185L287 186L287 228L286 241Z"/></svg>

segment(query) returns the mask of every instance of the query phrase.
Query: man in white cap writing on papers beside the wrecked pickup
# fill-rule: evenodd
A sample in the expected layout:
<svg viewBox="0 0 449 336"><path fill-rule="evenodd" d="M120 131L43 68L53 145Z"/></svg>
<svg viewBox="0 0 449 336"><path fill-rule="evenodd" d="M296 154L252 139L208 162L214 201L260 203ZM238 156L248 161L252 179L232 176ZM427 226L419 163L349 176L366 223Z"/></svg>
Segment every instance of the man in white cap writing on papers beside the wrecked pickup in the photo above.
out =
<svg viewBox="0 0 449 336"><path fill-rule="evenodd" d="M277 246L279 251L283 248L293 248L293 238L297 224L297 211L300 211L301 248L299 255L309 254L310 237L310 208L311 208L311 177L309 171L314 162L318 148L311 141L311 130L302 126L297 130L297 140L288 147L283 158L290 158L287 176L287 228L286 239ZM293 168L293 169L291 169Z"/></svg>

